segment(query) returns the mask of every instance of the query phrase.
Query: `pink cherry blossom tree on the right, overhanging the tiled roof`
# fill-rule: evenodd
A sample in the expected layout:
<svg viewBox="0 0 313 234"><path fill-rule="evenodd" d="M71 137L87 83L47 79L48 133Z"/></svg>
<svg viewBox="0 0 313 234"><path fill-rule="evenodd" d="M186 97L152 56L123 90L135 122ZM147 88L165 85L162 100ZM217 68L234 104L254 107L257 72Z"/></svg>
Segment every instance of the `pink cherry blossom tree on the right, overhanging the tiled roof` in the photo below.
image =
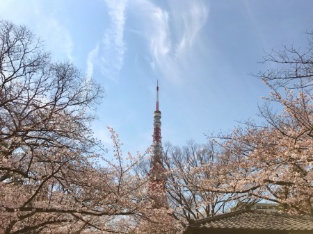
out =
<svg viewBox="0 0 313 234"><path fill-rule="evenodd" d="M216 135L218 155L232 164L216 164L213 179L199 187L273 201L286 212L313 216L312 49L309 40L305 51L284 47L266 54L264 62L273 68L258 75L271 88L259 108L264 123L247 121ZM223 187L214 189L216 183Z"/></svg>

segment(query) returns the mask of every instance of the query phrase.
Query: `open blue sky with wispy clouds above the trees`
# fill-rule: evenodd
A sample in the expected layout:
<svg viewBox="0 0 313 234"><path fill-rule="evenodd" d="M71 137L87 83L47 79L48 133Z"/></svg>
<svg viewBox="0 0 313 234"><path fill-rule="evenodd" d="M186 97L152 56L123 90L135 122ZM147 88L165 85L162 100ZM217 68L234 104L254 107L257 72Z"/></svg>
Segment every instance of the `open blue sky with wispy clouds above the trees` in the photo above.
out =
<svg viewBox="0 0 313 234"><path fill-rule="evenodd" d="M102 83L95 136L109 147L111 126L136 153L152 143L157 79L163 141L206 142L255 117L268 89L249 73L268 69L264 51L306 46L313 1L0 0L0 17Z"/></svg>

